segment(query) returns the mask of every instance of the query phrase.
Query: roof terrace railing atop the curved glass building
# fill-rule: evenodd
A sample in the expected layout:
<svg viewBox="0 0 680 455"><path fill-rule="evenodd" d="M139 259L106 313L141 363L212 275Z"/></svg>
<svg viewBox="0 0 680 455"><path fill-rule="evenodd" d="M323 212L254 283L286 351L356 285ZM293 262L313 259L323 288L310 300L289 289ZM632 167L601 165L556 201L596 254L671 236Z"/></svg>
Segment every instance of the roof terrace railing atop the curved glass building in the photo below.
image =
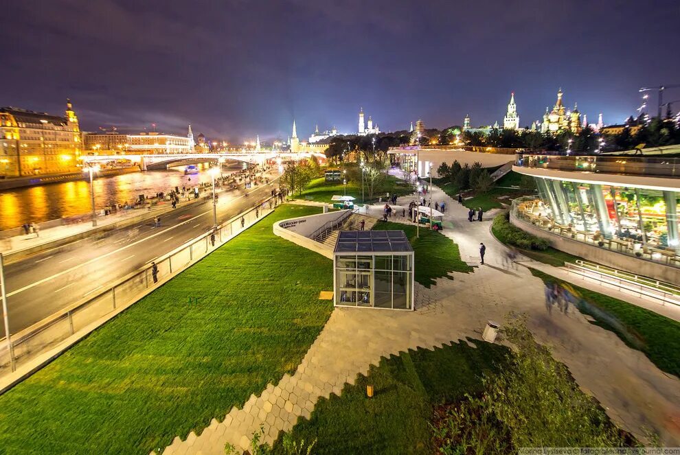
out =
<svg viewBox="0 0 680 455"><path fill-rule="evenodd" d="M680 176L680 159L645 156L565 156L524 154L515 157L514 165L568 172L619 174L628 176Z"/></svg>

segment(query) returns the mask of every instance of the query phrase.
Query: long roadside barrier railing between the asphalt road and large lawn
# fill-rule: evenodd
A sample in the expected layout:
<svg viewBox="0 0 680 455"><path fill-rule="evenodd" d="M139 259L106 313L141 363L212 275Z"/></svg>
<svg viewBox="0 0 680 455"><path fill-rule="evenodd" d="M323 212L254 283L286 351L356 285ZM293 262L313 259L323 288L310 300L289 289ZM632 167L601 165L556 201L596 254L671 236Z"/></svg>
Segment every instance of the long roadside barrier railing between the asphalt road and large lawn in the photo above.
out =
<svg viewBox="0 0 680 455"><path fill-rule="evenodd" d="M0 338L0 376L10 373L16 366L25 364L37 355L55 347L61 342L87 328L104 316L132 305L149 290L168 281L186 268L229 242L277 206L275 196L270 196L257 205L239 213L234 218L220 224L215 229L175 248L170 253L158 257L153 262L157 266L154 273L151 261L144 267L131 272L126 277L107 284L101 292L88 296L39 321L38 323L10 336L10 347L5 337Z"/></svg>

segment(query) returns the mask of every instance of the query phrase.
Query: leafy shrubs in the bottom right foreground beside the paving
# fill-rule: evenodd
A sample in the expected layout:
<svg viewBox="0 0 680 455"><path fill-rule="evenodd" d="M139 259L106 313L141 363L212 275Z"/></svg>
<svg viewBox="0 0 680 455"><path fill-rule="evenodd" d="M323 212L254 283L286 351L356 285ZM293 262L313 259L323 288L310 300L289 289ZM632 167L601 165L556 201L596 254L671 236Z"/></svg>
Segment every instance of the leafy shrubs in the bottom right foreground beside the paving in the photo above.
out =
<svg viewBox="0 0 680 455"><path fill-rule="evenodd" d="M434 425L442 454L514 453L519 447L629 447L598 402L583 393L564 364L536 343L525 318L503 335L517 349L497 375L484 375L484 393L447 410Z"/></svg>

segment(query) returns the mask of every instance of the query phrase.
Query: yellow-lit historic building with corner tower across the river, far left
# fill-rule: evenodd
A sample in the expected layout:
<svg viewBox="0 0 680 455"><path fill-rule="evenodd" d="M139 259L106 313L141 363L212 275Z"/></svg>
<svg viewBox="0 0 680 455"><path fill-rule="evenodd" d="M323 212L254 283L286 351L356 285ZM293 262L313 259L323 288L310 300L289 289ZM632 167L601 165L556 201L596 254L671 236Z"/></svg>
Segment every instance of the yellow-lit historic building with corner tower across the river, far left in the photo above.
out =
<svg viewBox="0 0 680 455"><path fill-rule="evenodd" d="M0 108L0 176L5 178L78 172L82 137L71 100L63 117Z"/></svg>

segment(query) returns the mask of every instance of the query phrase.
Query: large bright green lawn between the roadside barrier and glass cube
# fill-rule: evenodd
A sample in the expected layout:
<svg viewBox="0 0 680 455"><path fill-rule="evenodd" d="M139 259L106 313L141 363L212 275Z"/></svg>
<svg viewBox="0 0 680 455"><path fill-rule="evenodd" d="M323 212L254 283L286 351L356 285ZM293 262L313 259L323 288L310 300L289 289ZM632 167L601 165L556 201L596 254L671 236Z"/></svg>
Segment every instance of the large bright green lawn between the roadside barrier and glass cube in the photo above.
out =
<svg viewBox="0 0 680 455"><path fill-rule="evenodd" d="M278 208L2 395L0 452L148 454L293 373L332 262L272 224L319 211Z"/></svg>

